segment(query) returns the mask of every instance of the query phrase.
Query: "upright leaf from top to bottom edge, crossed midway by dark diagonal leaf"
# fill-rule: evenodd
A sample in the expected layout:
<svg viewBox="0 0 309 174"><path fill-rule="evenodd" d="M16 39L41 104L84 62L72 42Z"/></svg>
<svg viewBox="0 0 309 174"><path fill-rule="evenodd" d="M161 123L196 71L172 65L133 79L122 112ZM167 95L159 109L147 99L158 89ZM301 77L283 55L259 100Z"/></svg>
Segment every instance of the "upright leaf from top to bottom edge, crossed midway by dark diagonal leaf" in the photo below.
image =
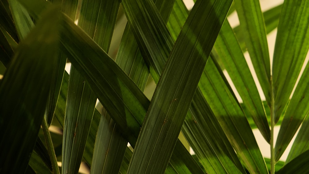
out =
<svg viewBox="0 0 309 174"><path fill-rule="evenodd" d="M100 44L101 47L106 51L108 51L110 45L118 9L119 1L83 1L81 6L78 25L85 32L87 32L89 36L93 37L94 41ZM96 97L91 88L88 86L87 82L84 82L83 78L76 71L74 66L71 66L71 72L74 73L74 79L79 80L69 80L67 103L75 103L77 105L75 106L76 109L72 110L73 113L66 112L65 125L67 126L65 126L64 133L66 133L66 128L70 129L73 127L73 129L71 129L71 133L64 134L64 140L66 140L68 143L74 143L73 150L70 146L68 147L67 145L63 144L63 148L66 148L63 154L66 152L69 155L67 158L64 158L64 155L62 156L64 159L63 161L67 162L65 165L63 165L62 169L63 171L72 170L77 172L79 164L82 160L84 147L86 145L91 119L95 108ZM74 86L76 89L83 91L82 95L78 94L78 92L70 93L70 86ZM69 97L70 95L71 97ZM72 107L68 104L66 110L69 110ZM87 108L87 111L83 111L83 108ZM80 110L80 112L75 112L74 114L74 110ZM84 119L87 121L85 122ZM73 130L75 130L74 134ZM75 139L75 133L81 134L80 137L77 136ZM74 149L76 150L74 151ZM76 157L75 155L78 156Z"/></svg>

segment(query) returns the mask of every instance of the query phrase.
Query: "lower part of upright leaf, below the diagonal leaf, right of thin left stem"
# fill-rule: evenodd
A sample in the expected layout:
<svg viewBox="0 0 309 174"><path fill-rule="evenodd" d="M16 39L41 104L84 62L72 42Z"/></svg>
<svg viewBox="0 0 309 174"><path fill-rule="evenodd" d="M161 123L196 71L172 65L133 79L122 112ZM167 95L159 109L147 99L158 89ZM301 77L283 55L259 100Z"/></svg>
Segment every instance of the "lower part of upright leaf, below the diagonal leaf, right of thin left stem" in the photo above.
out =
<svg viewBox="0 0 309 174"><path fill-rule="evenodd" d="M66 117L63 130L62 173L77 173L91 125L96 97L87 82L70 70ZM92 93L92 94L91 94Z"/></svg>

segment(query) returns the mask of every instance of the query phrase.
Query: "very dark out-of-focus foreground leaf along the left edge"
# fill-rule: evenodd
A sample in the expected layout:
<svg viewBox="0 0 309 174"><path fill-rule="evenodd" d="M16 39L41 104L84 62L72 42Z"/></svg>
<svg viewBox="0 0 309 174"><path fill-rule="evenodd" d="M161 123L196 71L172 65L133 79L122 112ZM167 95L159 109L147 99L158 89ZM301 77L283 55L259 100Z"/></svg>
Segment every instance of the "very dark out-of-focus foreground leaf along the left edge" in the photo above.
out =
<svg viewBox="0 0 309 174"><path fill-rule="evenodd" d="M0 132L5 133L0 137L1 172L24 172L28 165L56 63L62 21L55 15L57 12L54 7L46 11L37 27L16 49L1 81ZM54 25L50 26L50 23ZM16 126L18 129L11 131Z"/></svg>

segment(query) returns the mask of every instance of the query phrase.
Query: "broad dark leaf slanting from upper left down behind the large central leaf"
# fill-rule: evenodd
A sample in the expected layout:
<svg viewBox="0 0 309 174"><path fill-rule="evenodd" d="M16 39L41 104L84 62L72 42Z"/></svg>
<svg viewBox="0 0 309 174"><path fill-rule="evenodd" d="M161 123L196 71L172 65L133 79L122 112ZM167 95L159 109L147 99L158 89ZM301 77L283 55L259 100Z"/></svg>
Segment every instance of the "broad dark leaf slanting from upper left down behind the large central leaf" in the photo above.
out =
<svg viewBox="0 0 309 174"><path fill-rule="evenodd" d="M35 18L39 18L39 12L48 6L44 1L21 2ZM73 21L67 17L65 19L66 22L62 26L65 35L61 37L63 50L70 55L72 63L91 84L99 100L103 101L104 107L109 109L108 112L129 142L135 144L149 100L91 38L75 26ZM98 76L100 81L95 80ZM109 80L106 81L106 78ZM188 154L188 151L178 149L174 152ZM183 162L182 160L176 161ZM185 165L193 165L197 171L199 170L196 163Z"/></svg>

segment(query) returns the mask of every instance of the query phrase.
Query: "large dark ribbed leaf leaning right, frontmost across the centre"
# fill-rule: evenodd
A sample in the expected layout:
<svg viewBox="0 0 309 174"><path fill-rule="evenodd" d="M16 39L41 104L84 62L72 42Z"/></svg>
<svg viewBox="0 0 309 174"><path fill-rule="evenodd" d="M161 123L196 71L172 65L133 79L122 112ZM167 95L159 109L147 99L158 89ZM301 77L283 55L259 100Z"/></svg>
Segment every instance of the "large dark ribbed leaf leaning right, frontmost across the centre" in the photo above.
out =
<svg viewBox="0 0 309 174"><path fill-rule="evenodd" d="M134 5L140 5L140 4L135 4L135 3L127 4L127 3L124 3L124 1L123 1L123 4L124 4L124 9L125 9L125 12L126 12L127 15L129 13L133 12L133 11L130 11L130 10L133 9ZM157 14L156 11L152 11L151 3L141 3L141 4L144 7L143 9L147 9L147 10L149 9L150 10L150 14L153 14L153 15ZM215 3L209 5L208 3L205 3L205 2L203 3L202 1L200 1L197 4L198 4L197 6L201 5L201 6L204 6L204 7L212 8ZM223 3L223 4L224 5L222 6L222 10L227 9L227 8L224 8L224 7L228 6L228 8L229 8L229 6L231 5L228 2ZM216 5L218 5L217 8L219 8L219 6L221 4L215 4L215 7L216 7ZM181 125L184 121L184 117L183 117L183 119L180 119L178 117L176 118L176 117L173 117L173 116L174 115L185 116L184 113L188 109L189 103L188 102L182 103L182 101L186 100L187 97L188 98L191 97L191 99L192 99L195 89L193 88L193 90L190 91L188 89L188 86L190 86L192 83L197 84L198 79L199 79L198 74L200 74L198 70L196 72L193 72L193 74L188 73L188 74L190 74L189 75L190 77L197 76L197 78L189 79L188 78L189 76L182 77L183 74L176 73L177 72L176 69L178 69L178 71L180 69L180 72L182 71L182 69L186 70L186 64L184 62L188 61L188 66L195 67L196 69L200 68L201 71L202 71L202 69L203 69L203 67L206 63L206 62L203 62L203 61L207 60L207 58L205 59L204 54L207 55L207 54L210 53L209 47L212 47L212 45L211 44L208 45L208 43L205 43L204 40L202 40L202 39L198 40L198 39L200 39L200 38L205 39L207 37L209 37L209 39L213 39L213 37L211 37L211 34L207 35L208 33L203 31L203 26L205 25L205 23L207 23L209 25L212 24L213 27L215 29L217 29L217 30L215 30L217 32L218 32L218 28L220 28L220 26L221 26L221 24L218 21L214 22L212 20L202 20L202 21L205 21L205 23L198 25L197 23L199 21L197 22L197 20L193 20L193 18L197 14L203 14L202 12L205 12L205 11L202 10L202 9L203 8L198 8L198 7L193 8L193 11L191 11L191 16L189 15L188 20L187 20L189 22L184 25L183 32L180 33L180 36L178 38L178 42L176 41L175 47L174 47L173 51L171 52L171 56L170 56L170 59L169 59L170 62L167 62L166 69L165 69L166 74L164 74L164 72L163 72L163 75L162 75L162 79L164 79L164 80L159 81L159 83L158 83L158 86L156 88L157 93L155 92L155 95L152 99L152 104L150 104L149 111L147 112L147 115L146 115L146 120L145 120L145 122L142 126L142 130L141 130L141 134L139 136L137 147L134 150L133 157L132 157L131 162L130 162L130 166L129 166L129 170L128 170L129 173L130 172L134 173L134 172L138 172L138 171L139 172L142 172L142 171L146 172L146 171L151 171L153 168L163 168L164 169L166 167L167 160L169 159L169 155L163 156L162 153L161 154L155 153L156 151L158 151L156 149L164 146L165 147L164 152L167 153L167 154L171 154L171 150L172 150L172 148L175 144L175 140L176 140L175 136L177 137L178 134L179 134L179 132L177 132L177 129L180 130ZM205 13L205 15L201 15L201 16L205 16L205 19L207 19L208 15L211 15L211 14L208 14L207 12ZM143 13L141 13L141 14L143 14ZM222 12L222 13L219 13L219 14L222 15L222 18L225 18L226 14L227 14L227 10L226 10L226 13ZM212 15L214 15L214 14L212 14ZM149 18L149 17L151 17L151 15L146 16L146 17ZM197 22L197 23L195 23L195 22ZM196 28L194 28L193 26L196 27ZM193 27L194 29L191 28L191 27ZM161 28L161 29L164 29L164 28ZM201 36L200 36L200 34L201 34ZM214 32L214 35L216 35L216 32ZM177 47L177 43L182 44L183 42L191 42L191 41L186 41L187 38L191 37L191 36L196 36L198 43L200 43L200 44L197 45L197 48L199 48L199 49L204 48L206 50L207 49L209 50L209 53L207 53L207 51L206 51L206 53L201 53L198 60L191 58L191 56L196 57L197 55L200 54L199 49L196 49L194 44L192 44L192 45L189 44L188 47L184 47L184 48ZM192 42L195 43L197 40L192 40ZM190 53L189 50L193 51L193 53L191 55L187 54L188 52ZM176 57L178 57L182 53L184 54L183 59L182 59L184 62L182 62L182 61L176 62L175 61ZM194 64L195 61L199 62L201 65L198 64L198 63ZM197 74L194 75L194 73L197 73ZM193 76L191 76L191 75L193 75ZM177 80L175 80L175 79L177 79ZM185 80L186 83L181 83L181 81L180 81L180 83L178 83L178 80L180 80L180 79ZM187 83L188 81L190 81L190 83L189 83L190 85L186 86L186 84L188 84ZM161 86L160 82L161 82L162 86ZM166 83L166 82L170 82L170 83ZM171 86L175 85L175 88L170 87L170 85ZM186 89L188 89L188 90L186 90ZM192 89L192 87L191 87L191 89ZM186 91L187 94L182 95L182 92L180 92L178 90ZM160 92L158 92L158 91L160 91ZM168 92L168 91L170 91L171 93ZM158 94L158 95L156 95L156 94ZM182 97L184 97L184 99ZM179 101L177 101L178 98L180 98ZM177 107L177 106L182 106L182 107ZM157 109L160 109L160 111L157 110ZM158 113L158 114L156 114L156 113ZM171 123L173 123L173 124L171 124ZM153 129L151 131L147 131L149 125L153 125L152 126ZM170 126L172 126L172 127L170 127ZM168 130L171 131L169 133L170 137L166 137L167 136L166 131L168 131ZM155 134L155 133L158 133L158 134ZM152 136L153 136L153 138L151 138ZM140 144L139 144L139 141L141 141ZM145 143L145 145L146 144L148 144L148 145L144 146L143 143ZM147 150L147 149L149 149L149 150ZM142 155L143 158L141 158L140 155ZM156 158L152 158L153 155L156 156ZM141 161L141 159L143 159L143 160ZM151 161L151 163L149 163L150 161ZM137 166L137 164L139 164L139 166Z"/></svg>

